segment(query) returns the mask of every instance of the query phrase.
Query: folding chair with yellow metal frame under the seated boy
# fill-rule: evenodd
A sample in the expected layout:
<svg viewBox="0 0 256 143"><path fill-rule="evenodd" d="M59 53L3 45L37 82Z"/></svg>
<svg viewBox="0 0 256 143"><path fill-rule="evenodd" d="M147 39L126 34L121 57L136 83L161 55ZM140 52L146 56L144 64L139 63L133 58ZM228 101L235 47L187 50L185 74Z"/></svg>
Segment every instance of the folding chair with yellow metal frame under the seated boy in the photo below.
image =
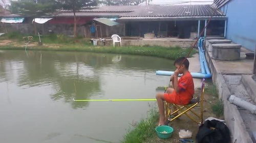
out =
<svg viewBox="0 0 256 143"><path fill-rule="evenodd" d="M164 108L165 108L165 118L168 119L168 122L172 122L175 119L179 118L182 115L186 115L189 119L192 121L198 123L201 125L203 123L203 101L204 101L204 79L202 80L202 86L201 86L201 95L200 97L193 98L188 105L177 105L177 104L172 104L172 103L164 103ZM198 104L200 103L200 115L196 113L196 111L192 110L195 108ZM172 106L177 107L177 110L172 112ZM177 116L174 116L175 114L180 112ZM190 113L189 113L190 112ZM193 116L194 115L194 116Z"/></svg>

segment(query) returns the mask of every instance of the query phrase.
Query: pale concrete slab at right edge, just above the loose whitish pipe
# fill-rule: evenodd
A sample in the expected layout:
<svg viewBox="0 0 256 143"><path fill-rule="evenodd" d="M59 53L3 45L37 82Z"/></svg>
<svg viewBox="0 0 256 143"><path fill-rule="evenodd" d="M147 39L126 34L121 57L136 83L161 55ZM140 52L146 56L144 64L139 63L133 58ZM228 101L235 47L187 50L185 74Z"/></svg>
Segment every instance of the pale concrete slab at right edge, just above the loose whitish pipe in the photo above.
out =
<svg viewBox="0 0 256 143"><path fill-rule="evenodd" d="M256 82L252 79L252 75L242 75L242 83L254 103L256 103Z"/></svg>

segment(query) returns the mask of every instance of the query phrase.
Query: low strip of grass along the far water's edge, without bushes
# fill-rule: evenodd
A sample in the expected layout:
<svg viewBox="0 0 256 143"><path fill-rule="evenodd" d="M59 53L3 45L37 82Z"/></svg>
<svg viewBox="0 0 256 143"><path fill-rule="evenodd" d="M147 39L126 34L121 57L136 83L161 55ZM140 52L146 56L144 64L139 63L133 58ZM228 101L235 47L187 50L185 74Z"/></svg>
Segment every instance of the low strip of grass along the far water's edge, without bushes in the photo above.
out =
<svg viewBox="0 0 256 143"><path fill-rule="evenodd" d="M25 46L0 46L0 49L24 49ZM125 46L125 47L91 47L79 45L62 45L60 47L46 47L46 46L33 46L27 47L27 50L53 50L53 51L84 51L96 53L120 53L120 54L136 54L147 55L175 60L180 56L186 56L189 49L182 49L179 47L164 48L159 46ZM196 51L193 51L193 55Z"/></svg>

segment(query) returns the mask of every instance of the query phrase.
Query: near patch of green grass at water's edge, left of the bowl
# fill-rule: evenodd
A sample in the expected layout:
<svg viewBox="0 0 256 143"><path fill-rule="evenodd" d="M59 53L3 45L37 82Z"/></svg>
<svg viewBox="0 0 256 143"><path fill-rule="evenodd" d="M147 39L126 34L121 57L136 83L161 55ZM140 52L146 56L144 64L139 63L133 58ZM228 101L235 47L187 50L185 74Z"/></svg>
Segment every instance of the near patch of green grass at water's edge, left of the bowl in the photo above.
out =
<svg viewBox="0 0 256 143"><path fill-rule="evenodd" d="M156 108L151 109L147 119L141 120L133 129L127 132L122 143L142 143L155 134L155 128L158 121L158 112Z"/></svg>

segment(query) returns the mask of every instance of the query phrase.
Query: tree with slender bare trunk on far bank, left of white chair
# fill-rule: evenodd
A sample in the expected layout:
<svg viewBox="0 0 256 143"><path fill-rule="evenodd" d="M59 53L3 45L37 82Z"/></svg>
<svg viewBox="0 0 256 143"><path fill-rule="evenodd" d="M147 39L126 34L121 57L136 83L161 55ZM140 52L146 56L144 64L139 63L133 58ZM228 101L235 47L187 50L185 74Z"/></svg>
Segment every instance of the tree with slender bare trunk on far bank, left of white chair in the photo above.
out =
<svg viewBox="0 0 256 143"><path fill-rule="evenodd" d="M74 14L74 37L76 34L76 12L81 9L91 9L98 5L96 0L58 0L64 10L71 10Z"/></svg>

